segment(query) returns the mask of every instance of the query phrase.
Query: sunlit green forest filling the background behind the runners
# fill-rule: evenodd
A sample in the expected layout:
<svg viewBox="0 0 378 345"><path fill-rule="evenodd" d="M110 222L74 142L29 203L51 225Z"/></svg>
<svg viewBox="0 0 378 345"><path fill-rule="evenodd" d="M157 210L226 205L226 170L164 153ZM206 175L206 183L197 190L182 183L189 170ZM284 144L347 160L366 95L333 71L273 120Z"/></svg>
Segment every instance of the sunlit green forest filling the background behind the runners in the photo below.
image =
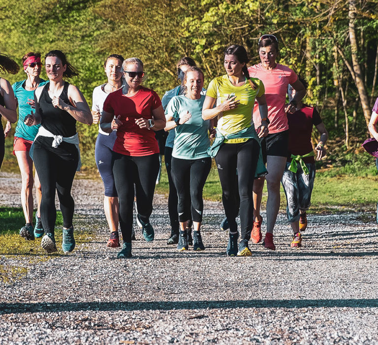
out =
<svg viewBox="0 0 378 345"><path fill-rule="evenodd" d="M305 103L320 112L330 133L328 155L318 164L330 176L377 175L361 149L378 96L377 0L5 0L0 4L0 52L16 60L28 51L61 49L80 75L72 78L92 104L106 81L109 54L139 57L144 85L160 97L178 85L176 63L192 57L209 81L224 74L223 51L244 45L259 62L260 35L280 42L280 63L309 83ZM22 80L4 75L11 83ZM42 69L41 76L46 78ZM78 125L84 165L95 169L97 126ZM14 132L14 125L13 125ZM314 131L314 142L318 134ZM11 151L12 137L7 139ZM16 164L7 152L5 162ZM4 166L3 166L4 168Z"/></svg>

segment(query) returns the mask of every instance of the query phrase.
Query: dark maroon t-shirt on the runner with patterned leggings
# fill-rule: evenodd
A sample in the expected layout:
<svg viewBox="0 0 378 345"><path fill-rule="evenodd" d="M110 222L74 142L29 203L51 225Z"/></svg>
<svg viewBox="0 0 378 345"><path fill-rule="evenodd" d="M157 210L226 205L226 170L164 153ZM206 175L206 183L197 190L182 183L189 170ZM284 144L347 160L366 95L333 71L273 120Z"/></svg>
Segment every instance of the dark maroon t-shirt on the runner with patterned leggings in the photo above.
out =
<svg viewBox="0 0 378 345"><path fill-rule="evenodd" d="M287 122L289 124L289 154L287 162L291 162L293 155L305 155L313 150L311 143L311 134L313 126L320 124L321 118L319 113L312 106L303 104L303 107L294 112L287 114ZM315 163L314 157L303 158L305 163Z"/></svg>

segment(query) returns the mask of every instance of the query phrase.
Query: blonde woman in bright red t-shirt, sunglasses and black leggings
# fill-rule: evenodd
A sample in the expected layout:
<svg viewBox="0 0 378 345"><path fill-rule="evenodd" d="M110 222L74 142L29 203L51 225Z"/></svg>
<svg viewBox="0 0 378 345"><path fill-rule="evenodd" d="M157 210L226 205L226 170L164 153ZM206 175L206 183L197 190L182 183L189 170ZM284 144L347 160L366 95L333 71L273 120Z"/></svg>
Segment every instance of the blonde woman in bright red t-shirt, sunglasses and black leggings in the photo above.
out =
<svg viewBox="0 0 378 345"><path fill-rule="evenodd" d="M131 256L134 184L138 200L137 218L147 242L154 240L150 224L152 201L159 171L159 147L154 131L165 127L164 110L158 94L141 86L143 63L137 58L122 64L126 87L106 98L101 129L117 131L113 147L113 174L119 198L119 220L124 239L117 258Z"/></svg>

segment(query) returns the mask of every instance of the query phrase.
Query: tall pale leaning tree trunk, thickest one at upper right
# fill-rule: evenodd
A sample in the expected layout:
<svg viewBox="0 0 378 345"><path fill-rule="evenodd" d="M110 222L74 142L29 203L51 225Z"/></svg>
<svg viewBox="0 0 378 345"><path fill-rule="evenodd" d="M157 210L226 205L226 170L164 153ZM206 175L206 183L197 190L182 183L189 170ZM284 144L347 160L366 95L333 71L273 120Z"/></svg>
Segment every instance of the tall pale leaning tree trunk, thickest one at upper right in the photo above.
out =
<svg viewBox="0 0 378 345"><path fill-rule="evenodd" d="M364 112L366 126L369 125L371 110L369 105L368 94L366 92L366 87L363 79L362 69L360 66L359 58L357 55L358 46L356 40L356 31L354 27L354 21L356 19L357 11L356 11L356 0L349 0L349 41L350 41L350 49L352 53L352 63L353 63L353 70L355 73L355 83L357 86L358 94L360 96L362 110Z"/></svg>

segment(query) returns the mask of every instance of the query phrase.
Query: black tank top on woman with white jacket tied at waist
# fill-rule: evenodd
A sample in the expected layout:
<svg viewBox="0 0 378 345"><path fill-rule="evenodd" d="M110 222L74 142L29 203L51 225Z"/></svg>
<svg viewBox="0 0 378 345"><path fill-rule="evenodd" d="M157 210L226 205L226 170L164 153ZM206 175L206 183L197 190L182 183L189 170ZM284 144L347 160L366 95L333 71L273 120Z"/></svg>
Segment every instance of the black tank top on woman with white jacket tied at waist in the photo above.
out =
<svg viewBox="0 0 378 345"><path fill-rule="evenodd" d="M64 87L60 99L71 104L68 99L68 85L64 82ZM47 83L39 98L39 114L41 115L41 125L56 136L72 137L76 134L76 120L65 110L55 108L49 96L50 83Z"/></svg>

